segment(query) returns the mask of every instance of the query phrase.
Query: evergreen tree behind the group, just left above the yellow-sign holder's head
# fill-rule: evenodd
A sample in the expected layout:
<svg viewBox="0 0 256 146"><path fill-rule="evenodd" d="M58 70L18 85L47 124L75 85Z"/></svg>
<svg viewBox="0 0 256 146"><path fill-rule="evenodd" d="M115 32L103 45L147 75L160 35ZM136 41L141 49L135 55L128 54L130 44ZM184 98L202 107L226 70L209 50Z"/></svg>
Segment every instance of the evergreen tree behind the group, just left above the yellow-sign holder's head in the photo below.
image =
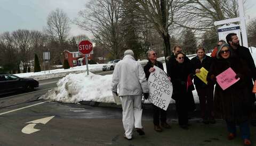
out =
<svg viewBox="0 0 256 146"><path fill-rule="evenodd" d="M183 42L182 48L185 54L195 54L196 53L196 37L195 33L191 29L185 29L183 32Z"/></svg>

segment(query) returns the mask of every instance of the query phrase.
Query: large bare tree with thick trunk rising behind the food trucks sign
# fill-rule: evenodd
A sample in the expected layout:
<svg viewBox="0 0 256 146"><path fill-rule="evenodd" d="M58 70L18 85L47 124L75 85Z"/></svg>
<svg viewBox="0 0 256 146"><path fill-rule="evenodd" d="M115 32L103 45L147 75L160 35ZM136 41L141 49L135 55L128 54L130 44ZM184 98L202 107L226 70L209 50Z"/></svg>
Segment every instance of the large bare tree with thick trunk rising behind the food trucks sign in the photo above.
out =
<svg viewBox="0 0 256 146"><path fill-rule="evenodd" d="M146 20L153 24L159 35L163 39L164 56L171 54L170 50L170 26L180 16L179 10L188 3L187 0L131 0L134 10L144 16Z"/></svg>

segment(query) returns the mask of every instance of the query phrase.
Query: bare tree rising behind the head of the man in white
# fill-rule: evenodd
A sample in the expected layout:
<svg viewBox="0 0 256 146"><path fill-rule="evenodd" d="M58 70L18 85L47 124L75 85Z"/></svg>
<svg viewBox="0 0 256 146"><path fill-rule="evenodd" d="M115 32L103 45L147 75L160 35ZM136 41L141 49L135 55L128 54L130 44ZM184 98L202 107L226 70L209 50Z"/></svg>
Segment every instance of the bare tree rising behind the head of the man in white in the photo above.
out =
<svg viewBox="0 0 256 146"><path fill-rule="evenodd" d="M122 52L123 33L119 27L122 6L118 0L92 0L85 10L79 12L75 22L79 27L90 31L94 41L107 49L114 58Z"/></svg>

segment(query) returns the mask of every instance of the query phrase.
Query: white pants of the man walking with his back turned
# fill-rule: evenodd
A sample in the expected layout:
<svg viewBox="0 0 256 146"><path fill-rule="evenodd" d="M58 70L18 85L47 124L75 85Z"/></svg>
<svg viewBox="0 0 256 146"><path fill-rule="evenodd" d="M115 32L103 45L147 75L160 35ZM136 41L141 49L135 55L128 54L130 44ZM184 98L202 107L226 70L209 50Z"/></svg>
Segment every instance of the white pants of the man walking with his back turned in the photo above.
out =
<svg viewBox="0 0 256 146"><path fill-rule="evenodd" d="M133 128L142 128L141 117L141 98L142 96L122 96L123 125L125 136L132 138Z"/></svg>

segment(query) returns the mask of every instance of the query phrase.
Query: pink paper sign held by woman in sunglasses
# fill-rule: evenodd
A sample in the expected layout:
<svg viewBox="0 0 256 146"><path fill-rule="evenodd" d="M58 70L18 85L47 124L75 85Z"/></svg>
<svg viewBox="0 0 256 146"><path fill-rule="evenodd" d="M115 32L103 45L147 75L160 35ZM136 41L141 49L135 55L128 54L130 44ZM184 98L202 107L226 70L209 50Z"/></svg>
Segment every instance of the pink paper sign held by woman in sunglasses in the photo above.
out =
<svg viewBox="0 0 256 146"><path fill-rule="evenodd" d="M216 79L222 90L225 90L240 80L239 78L236 79L235 76L236 73L232 70L232 68L229 67L226 71L217 75Z"/></svg>

